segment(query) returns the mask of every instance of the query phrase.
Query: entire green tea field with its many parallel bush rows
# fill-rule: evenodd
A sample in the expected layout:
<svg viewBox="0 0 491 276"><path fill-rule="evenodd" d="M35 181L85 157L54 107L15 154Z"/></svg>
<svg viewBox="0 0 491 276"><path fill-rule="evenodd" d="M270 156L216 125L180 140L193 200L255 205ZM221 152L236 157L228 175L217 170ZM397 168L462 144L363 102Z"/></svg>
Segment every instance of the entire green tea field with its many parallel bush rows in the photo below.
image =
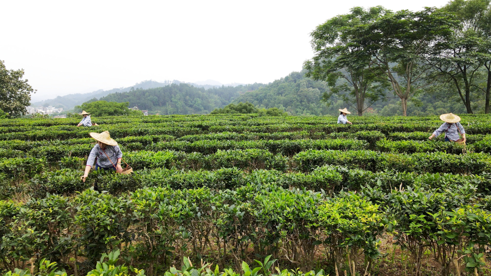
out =
<svg viewBox="0 0 491 276"><path fill-rule="evenodd" d="M437 116L349 119L0 120L0 271L490 275L490 116L462 115L466 146L428 140ZM82 182L88 134L106 130L134 173Z"/></svg>

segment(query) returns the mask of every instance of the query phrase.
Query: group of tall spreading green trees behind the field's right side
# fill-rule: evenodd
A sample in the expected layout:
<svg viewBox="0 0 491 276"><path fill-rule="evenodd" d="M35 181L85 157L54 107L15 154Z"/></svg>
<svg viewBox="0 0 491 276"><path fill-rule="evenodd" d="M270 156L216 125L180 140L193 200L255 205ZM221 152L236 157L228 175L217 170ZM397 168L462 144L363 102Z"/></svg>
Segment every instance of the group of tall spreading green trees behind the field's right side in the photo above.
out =
<svg viewBox="0 0 491 276"><path fill-rule="evenodd" d="M481 107L488 113L490 27L490 0L452 0L415 12L355 7L311 33L315 54L304 68L307 77L327 81L324 100L336 95L359 115L383 97L381 77L400 99L403 115L409 102L429 99L421 93L452 102L456 95L467 113Z"/></svg>

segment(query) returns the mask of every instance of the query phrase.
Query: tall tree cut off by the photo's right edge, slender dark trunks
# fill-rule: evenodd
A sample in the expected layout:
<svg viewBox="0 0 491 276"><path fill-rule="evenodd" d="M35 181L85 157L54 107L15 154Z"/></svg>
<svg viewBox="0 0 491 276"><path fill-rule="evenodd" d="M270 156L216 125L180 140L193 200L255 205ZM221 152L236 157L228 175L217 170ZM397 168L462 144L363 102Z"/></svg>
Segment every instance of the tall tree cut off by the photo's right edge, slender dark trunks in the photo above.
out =
<svg viewBox="0 0 491 276"><path fill-rule="evenodd" d="M485 112L490 111L491 39L487 21L490 0L453 0L442 11L452 12L460 20L453 26L453 35L434 47L426 63L433 66L433 77L443 83L453 83L467 113L472 111L472 92L483 91ZM483 83L486 79L486 85Z"/></svg>

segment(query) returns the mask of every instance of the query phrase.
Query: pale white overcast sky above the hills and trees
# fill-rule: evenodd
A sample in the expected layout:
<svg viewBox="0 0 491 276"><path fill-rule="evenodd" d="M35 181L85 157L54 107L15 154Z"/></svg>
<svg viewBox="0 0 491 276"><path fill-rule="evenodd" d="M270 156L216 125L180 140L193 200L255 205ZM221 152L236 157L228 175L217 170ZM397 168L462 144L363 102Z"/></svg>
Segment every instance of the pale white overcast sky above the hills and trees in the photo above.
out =
<svg viewBox="0 0 491 276"><path fill-rule="evenodd" d="M448 0L0 0L0 60L33 100L144 80L270 83L312 57L309 33L354 6L397 11Z"/></svg>

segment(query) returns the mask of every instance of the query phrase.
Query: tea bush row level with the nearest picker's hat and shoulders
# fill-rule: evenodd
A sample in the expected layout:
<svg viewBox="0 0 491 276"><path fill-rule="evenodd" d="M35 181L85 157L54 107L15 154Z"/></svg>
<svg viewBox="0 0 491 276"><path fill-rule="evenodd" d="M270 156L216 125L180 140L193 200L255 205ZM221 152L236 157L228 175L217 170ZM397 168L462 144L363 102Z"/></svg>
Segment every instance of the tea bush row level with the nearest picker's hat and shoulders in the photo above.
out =
<svg viewBox="0 0 491 276"><path fill-rule="evenodd" d="M373 132L371 132L372 134ZM371 135L370 134L370 135ZM472 145L464 146L457 143L443 141L390 141L385 138L374 140L361 137L362 133L355 133L357 139L280 139L280 140L235 140L235 139L196 139L195 141L173 140L168 135L130 136L117 138L123 150L137 151L163 151L175 150L187 153L198 152L202 154L216 153L218 150L264 149L273 154L281 153L292 156L308 149L316 150L363 150L374 149L380 152L416 153L416 152L446 152L462 154L464 152L491 152L491 138L484 138ZM354 137L355 135L352 135ZM189 137L189 136L188 136ZM225 136L224 136L225 137ZM373 137L373 136L372 136ZM355 138L355 137L354 137ZM365 143L364 141L368 141ZM50 161L56 161L64 156L86 156L94 143L92 138L78 138L53 141L0 141L1 157L46 156ZM465 149L465 150L464 150Z"/></svg>

